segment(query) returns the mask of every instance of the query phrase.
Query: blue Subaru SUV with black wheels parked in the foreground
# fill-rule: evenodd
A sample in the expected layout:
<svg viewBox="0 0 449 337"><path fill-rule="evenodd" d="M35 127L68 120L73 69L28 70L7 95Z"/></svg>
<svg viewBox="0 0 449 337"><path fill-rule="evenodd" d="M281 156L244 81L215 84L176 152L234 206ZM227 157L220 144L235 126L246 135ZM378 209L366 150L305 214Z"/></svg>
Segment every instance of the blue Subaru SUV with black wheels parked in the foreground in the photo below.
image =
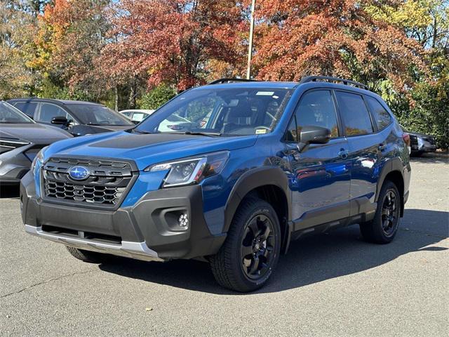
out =
<svg viewBox="0 0 449 337"><path fill-rule="evenodd" d="M221 79L133 129L62 140L22 178L25 230L81 260L207 260L252 291L290 242L359 224L394 239L410 140L380 96L347 79Z"/></svg>

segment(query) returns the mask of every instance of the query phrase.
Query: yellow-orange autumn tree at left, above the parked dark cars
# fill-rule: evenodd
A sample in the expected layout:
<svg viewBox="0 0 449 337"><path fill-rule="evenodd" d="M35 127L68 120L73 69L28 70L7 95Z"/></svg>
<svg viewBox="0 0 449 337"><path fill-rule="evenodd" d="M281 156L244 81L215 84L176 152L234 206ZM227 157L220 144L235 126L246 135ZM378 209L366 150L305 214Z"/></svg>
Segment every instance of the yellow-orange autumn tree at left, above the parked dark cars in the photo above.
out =
<svg viewBox="0 0 449 337"><path fill-rule="evenodd" d="M105 77L96 60L107 44L108 0L55 0L39 16L33 66L54 84L95 99L105 94Z"/></svg>

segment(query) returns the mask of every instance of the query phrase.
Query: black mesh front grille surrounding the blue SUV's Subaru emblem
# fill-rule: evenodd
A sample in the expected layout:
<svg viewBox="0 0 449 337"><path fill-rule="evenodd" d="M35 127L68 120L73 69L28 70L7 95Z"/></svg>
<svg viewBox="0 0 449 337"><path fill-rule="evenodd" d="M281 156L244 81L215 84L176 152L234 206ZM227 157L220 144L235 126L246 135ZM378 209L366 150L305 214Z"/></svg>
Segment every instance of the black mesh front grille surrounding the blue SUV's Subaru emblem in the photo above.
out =
<svg viewBox="0 0 449 337"><path fill-rule="evenodd" d="M69 176L74 166L83 166L89 176L74 180ZM114 207L128 190L133 176L128 162L51 158L43 166L43 188L45 196L53 201Z"/></svg>

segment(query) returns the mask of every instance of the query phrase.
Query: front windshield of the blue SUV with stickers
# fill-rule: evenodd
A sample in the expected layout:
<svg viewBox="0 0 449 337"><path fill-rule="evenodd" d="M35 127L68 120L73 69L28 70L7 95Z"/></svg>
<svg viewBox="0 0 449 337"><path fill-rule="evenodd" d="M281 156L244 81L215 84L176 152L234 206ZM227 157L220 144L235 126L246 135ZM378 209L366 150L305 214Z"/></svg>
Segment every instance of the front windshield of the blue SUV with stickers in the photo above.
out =
<svg viewBox="0 0 449 337"><path fill-rule="evenodd" d="M290 98L286 88L204 88L186 91L136 131L245 136L272 131Z"/></svg>

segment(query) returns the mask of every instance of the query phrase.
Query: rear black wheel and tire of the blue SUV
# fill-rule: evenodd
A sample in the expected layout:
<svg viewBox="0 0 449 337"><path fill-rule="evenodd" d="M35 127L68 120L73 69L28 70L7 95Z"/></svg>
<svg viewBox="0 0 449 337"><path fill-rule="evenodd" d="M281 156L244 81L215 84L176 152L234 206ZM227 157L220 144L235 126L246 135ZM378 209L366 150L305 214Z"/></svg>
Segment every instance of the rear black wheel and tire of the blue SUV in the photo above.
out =
<svg viewBox="0 0 449 337"><path fill-rule="evenodd" d="M363 239L375 244L388 244L393 241L398 231L400 214L401 197L398 187L391 181L385 180L377 200L375 217L360 225Z"/></svg>

